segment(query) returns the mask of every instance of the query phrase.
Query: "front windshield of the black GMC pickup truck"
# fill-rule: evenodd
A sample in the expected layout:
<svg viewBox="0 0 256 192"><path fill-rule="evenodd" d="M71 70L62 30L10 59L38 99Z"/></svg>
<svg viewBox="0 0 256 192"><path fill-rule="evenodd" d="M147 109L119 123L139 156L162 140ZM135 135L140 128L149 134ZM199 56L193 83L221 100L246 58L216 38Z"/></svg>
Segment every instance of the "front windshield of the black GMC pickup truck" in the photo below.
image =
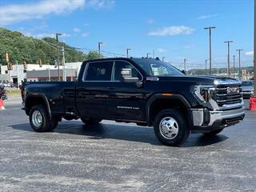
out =
<svg viewBox="0 0 256 192"><path fill-rule="evenodd" d="M146 74L150 76L170 77L184 75L180 70L171 66L167 62L161 62L150 58L134 58L134 62L141 66L142 69L145 70Z"/></svg>

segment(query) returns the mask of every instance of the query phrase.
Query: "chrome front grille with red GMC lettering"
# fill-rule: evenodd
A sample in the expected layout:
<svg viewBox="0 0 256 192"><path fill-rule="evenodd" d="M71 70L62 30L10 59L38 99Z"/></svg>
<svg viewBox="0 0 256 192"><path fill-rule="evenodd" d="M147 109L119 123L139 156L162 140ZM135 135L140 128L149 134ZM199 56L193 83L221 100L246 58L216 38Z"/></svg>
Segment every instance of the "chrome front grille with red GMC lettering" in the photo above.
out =
<svg viewBox="0 0 256 192"><path fill-rule="evenodd" d="M242 102L242 86L239 84L216 86L215 101L218 103L218 106Z"/></svg>

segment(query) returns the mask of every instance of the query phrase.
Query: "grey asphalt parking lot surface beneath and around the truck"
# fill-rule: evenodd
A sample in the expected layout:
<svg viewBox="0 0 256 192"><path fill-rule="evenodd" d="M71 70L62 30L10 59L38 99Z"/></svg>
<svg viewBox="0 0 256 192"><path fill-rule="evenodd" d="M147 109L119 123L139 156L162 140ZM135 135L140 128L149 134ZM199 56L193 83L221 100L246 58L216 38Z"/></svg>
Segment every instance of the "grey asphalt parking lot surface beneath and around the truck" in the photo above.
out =
<svg viewBox="0 0 256 192"><path fill-rule="evenodd" d="M162 146L152 128L63 121L35 133L14 99L0 111L0 191L255 191L256 112L214 138Z"/></svg>

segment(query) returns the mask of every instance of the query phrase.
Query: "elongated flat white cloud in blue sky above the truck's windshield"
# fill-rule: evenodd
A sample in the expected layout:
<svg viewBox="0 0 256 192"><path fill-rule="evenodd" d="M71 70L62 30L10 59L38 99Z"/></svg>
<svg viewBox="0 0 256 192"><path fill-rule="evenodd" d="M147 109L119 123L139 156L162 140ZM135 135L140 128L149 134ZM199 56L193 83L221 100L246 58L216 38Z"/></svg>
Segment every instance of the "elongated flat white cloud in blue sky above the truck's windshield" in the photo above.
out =
<svg viewBox="0 0 256 192"><path fill-rule="evenodd" d="M190 26L164 26L161 29L150 31L150 36L173 36L178 34L192 34L194 31Z"/></svg>

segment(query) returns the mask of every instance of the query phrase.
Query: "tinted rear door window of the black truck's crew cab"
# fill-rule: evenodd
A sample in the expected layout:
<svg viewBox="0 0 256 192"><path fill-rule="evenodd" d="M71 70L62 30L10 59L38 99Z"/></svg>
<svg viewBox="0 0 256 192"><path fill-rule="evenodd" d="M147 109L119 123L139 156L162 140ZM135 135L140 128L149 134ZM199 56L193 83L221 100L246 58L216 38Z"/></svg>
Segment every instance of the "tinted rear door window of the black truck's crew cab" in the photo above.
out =
<svg viewBox="0 0 256 192"><path fill-rule="evenodd" d="M110 81L113 62L91 62L87 68L86 81Z"/></svg>

